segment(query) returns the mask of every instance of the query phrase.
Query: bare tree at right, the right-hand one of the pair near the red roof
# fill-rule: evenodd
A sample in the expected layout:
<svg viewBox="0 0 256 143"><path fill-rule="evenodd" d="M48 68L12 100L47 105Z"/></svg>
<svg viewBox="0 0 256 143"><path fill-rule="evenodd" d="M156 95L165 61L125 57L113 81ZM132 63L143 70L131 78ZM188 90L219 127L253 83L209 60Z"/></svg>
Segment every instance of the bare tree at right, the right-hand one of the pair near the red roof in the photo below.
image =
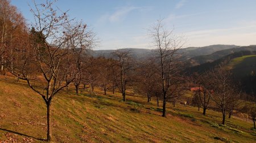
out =
<svg viewBox="0 0 256 143"><path fill-rule="evenodd" d="M225 124L226 115L240 103L240 93L233 83L232 73L230 71L226 71L220 67L212 73L212 80L214 80L214 94L212 99L218 109L221 110L222 124Z"/></svg>

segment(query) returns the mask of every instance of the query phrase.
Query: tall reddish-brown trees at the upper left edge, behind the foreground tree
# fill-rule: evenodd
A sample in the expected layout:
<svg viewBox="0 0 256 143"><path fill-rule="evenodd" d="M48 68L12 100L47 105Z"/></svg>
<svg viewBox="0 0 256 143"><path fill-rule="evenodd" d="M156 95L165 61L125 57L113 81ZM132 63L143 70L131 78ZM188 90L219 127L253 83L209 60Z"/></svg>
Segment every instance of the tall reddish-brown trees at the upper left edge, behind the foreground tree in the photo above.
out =
<svg viewBox="0 0 256 143"><path fill-rule="evenodd" d="M26 44L27 38L26 23L22 14L20 14L15 6L10 5L10 1L0 1L0 64L1 72L6 71L4 65L7 59L14 59L16 47L21 47ZM10 63L10 68L13 68L13 63Z"/></svg>

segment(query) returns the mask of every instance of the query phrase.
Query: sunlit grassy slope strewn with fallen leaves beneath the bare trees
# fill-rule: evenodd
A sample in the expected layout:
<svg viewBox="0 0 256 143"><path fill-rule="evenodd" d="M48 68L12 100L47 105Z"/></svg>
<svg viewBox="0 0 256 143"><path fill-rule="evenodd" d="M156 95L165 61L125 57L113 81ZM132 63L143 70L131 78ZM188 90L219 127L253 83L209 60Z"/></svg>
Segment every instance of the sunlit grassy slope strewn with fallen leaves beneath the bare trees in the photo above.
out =
<svg viewBox="0 0 256 143"><path fill-rule="evenodd" d="M156 103L120 94L103 96L62 92L52 105L55 142L255 142L253 124L238 118L221 126L221 114L196 107L168 107L161 117ZM12 78L0 77L0 141L43 142L46 107L43 99ZM167 106L171 106L168 104Z"/></svg>

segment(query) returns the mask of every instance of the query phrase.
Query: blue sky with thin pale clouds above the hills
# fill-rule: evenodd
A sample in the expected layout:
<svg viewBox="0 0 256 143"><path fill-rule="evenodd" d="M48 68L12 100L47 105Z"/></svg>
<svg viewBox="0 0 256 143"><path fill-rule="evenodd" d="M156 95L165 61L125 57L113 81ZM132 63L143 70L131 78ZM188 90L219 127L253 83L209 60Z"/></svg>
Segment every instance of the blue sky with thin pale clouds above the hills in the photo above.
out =
<svg viewBox="0 0 256 143"><path fill-rule="evenodd" d="M42 0L35 0L42 3ZM31 0L12 0L33 23ZM59 0L55 3L96 33L95 50L150 49L148 29L158 19L164 27L184 35L188 46L255 45L255 0Z"/></svg>

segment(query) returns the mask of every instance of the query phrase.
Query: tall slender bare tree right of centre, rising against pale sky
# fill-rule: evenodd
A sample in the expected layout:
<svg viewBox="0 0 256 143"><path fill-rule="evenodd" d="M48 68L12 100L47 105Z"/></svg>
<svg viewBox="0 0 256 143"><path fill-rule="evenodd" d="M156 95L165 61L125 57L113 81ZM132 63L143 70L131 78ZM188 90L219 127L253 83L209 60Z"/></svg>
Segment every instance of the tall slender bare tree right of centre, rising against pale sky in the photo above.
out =
<svg viewBox="0 0 256 143"><path fill-rule="evenodd" d="M179 76L181 64L179 49L184 45L183 36L176 36L174 31L167 31L160 19L150 29L150 36L154 51L156 53L156 62L158 63L158 70L160 71L160 79L163 94L163 115L166 116L166 102L168 92L172 85L175 85L174 79ZM171 95L171 94L169 94Z"/></svg>

